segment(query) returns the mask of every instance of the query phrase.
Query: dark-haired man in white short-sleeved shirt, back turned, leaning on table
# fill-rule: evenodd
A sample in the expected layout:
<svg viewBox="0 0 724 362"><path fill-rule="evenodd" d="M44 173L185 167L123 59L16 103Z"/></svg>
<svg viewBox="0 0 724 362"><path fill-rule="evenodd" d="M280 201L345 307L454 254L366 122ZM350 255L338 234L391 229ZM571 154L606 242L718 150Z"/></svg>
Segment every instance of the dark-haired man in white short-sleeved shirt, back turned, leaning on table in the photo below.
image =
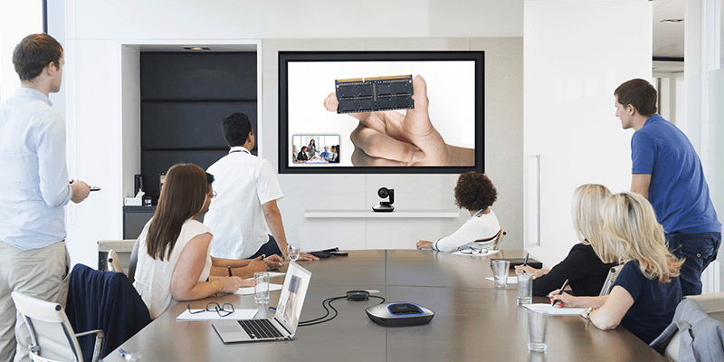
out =
<svg viewBox="0 0 724 362"><path fill-rule="evenodd" d="M250 152L254 133L249 117L243 113L226 117L222 120L222 133L231 148L229 154L207 170L214 175L217 194L204 216L204 224L214 232L211 254L224 259L277 254L289 259L277 206L277 200L284 195L271 163ZM300 260L318 258L301 253Z"/></svg>

